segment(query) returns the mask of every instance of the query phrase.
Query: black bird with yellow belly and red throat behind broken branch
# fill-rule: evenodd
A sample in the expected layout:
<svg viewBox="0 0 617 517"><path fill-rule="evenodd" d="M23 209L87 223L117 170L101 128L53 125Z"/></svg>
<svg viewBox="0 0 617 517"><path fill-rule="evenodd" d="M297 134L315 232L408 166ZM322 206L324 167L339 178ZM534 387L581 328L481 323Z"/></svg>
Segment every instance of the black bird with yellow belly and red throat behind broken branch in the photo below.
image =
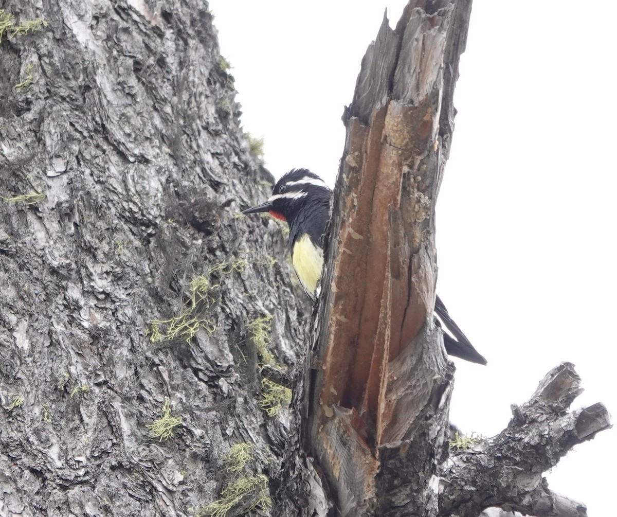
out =
<svg viewBox="0 0 617 517"><path fill-rule="evenodd" d="M317 174L308 169L292 169L276 182L268 201L242 210L242 213L270 212L288 223L291 262L311 300L317 297L323 269L323 233L328 223L331 194L331 189ZM439 296L435 303L435 323L441 328L445 326L452 334L444 332L448 354L486 365L486 359L450 318Z"/></svg>

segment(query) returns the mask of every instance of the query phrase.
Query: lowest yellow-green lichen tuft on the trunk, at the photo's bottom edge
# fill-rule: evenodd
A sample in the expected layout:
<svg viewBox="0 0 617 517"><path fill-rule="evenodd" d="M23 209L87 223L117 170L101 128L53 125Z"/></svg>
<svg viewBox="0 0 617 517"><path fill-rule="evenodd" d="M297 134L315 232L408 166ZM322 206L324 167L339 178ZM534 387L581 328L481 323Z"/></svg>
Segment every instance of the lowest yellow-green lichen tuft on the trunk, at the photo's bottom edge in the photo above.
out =
<svg viewBox="0 0 617 517"><path fill-rule="evenodd" d="M220 497L199 507L196 517L227 517L244 515L251 510L267 511L272 507L268 478L263 474L246 476L223 488Z"/></svg>

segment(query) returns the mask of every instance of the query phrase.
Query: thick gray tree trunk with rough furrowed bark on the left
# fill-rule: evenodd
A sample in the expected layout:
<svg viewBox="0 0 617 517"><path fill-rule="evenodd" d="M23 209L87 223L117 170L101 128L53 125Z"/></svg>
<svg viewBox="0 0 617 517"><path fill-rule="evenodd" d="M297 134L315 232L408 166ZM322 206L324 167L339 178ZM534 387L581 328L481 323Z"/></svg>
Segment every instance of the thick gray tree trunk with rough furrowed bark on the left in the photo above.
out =
<svg viewBox="0 0 617 517"><path fill-rule="evenodd" d="M255 476L280 484L288 416L260 408L272 358L247 325L273 315L286 370L305 310L278 225L237 217L272 178L207 4L149 6L4 2L49 25L0 43L1 515L195 515L242 477L232 513L267 512ZM181 424L159 442L165 399ZM228 471L243 442L254 460Z"/></svg>

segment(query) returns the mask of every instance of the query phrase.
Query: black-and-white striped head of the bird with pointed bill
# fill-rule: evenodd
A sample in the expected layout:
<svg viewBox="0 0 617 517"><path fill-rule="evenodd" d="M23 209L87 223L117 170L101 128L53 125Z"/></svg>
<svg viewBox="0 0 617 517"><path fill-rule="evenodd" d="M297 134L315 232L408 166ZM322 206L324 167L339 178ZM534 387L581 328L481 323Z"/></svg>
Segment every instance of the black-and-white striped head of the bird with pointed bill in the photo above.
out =
<svg viewBox="0 0 617 517"><path fill-rule="evenodd" d="M270 212L281 221L291 221L313 202L328 203L328 185L308 169L292 169L276 182L270 199L265 203L242 210L242 213Z"/></svg>

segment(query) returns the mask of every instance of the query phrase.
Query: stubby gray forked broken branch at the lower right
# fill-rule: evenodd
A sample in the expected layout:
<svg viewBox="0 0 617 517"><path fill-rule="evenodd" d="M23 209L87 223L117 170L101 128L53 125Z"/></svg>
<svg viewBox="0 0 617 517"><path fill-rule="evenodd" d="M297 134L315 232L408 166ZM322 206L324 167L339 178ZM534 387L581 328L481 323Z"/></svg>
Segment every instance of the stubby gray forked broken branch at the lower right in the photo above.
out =
<svg viewBox="0 0 617 517"><path fill-rule="evenodd" d="M542 473L574 447L610 428L602 403L568 413L582 392L574 365L546 374L500 434L470 452L453 454L439 473L439 516L476 516L487 507L507 507L537 517L583 517L585 505L549 490Z"/></svg>

